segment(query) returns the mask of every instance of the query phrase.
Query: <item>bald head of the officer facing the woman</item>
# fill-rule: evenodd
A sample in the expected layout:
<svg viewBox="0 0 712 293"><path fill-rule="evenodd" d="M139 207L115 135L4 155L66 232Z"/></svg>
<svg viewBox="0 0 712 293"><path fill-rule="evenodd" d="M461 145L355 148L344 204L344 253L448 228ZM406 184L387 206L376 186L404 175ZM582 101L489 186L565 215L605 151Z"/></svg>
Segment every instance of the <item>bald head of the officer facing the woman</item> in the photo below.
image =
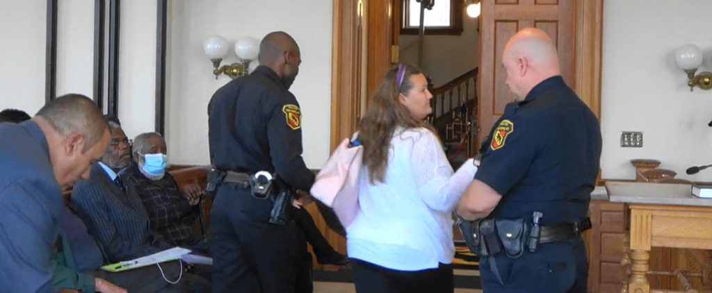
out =
<svg viewBox="0 0 712 293"><path fill-rule="evenodd" d="M519 97L539 82L561 74L556 45L538 28L524 28L510 38L502 63L507 69L507 84Z"/></svg>

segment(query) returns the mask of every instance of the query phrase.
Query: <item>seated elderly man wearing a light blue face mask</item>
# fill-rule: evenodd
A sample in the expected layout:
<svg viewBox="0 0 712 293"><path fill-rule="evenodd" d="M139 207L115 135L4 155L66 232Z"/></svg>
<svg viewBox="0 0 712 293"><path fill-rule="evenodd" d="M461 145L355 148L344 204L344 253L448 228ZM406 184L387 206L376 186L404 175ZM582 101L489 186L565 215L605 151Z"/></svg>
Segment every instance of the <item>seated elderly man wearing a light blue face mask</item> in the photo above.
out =
<svg viewBox="0 0 712 293"><path fill-rule="evenodd" d="M194 223L200 216L202 188L192 184L179 189L166 172L166 142L161 134L148 132L134 139L135 164L122 172L127 186L132 186L148 212L150 229L160 233L171 245L208 253L204 238Z"/></svg>

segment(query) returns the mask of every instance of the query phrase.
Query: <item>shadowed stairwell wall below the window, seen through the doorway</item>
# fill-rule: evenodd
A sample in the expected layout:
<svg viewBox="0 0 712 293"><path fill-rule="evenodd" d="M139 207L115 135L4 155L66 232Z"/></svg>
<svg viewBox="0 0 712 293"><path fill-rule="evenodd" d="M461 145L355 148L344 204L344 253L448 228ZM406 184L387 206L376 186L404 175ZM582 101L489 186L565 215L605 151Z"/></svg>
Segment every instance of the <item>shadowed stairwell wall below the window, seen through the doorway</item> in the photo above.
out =
<svg viewBox="0 0 712 293"><path fill-rule="evenodd" d="M460 36L425 35L424 37L421 68L430 75L435 87L473 70L479 63L478 18L465 15L462 25L463 31ZM400 36L400 62L418 64L417 39L417 35Z"/></svg>

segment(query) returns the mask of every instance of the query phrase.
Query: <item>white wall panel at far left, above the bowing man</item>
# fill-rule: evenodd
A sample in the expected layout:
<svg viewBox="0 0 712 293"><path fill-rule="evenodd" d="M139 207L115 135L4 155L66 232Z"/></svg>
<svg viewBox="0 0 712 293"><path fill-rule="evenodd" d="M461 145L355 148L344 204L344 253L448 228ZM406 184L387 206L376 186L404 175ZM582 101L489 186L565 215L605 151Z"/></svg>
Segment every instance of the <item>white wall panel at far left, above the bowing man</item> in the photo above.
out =
<svg viewBox="0 0 712 293"><path fill-rule="evenodd" d="M0 110L44 105L46 1L0 1Z"/></svg>

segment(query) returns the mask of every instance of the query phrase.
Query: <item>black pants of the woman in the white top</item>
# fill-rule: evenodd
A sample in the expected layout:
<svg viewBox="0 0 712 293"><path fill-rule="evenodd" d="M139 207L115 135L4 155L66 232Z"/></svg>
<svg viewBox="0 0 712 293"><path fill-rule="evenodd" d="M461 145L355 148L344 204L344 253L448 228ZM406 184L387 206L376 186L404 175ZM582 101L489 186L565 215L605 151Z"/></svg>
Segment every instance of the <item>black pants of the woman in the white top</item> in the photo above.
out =
<svg viewBox="0 0 712 293"><path fill-rule="evenodd" d="M455 290L451 265L399 271L352 258L351 268L359 293L452 293Z"/></svg>

